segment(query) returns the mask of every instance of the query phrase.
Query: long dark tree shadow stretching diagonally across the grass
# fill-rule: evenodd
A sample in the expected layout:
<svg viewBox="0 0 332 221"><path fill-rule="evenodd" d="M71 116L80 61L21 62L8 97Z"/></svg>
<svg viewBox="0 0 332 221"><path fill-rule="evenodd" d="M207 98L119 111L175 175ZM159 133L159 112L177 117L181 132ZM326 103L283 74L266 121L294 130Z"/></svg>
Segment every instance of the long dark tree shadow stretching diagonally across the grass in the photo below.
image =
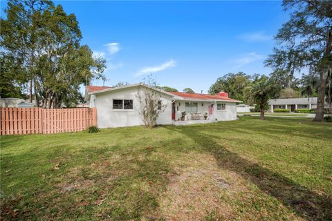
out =
<svg viewBox="0 0 332 221"><path fill-rule="evenodd" d="M203 150L214 155L217 165L233 171L255 184L259 189L273 196L297 215L308 220L332 220L332 199L328 195L319 195L292 180L266 169L259 164L244 159L237 153L228 150L220 137L206 135L200 130L188 127L167 127L176 133L194 140ZM201 128L204 130L204 128Z"/></svg>

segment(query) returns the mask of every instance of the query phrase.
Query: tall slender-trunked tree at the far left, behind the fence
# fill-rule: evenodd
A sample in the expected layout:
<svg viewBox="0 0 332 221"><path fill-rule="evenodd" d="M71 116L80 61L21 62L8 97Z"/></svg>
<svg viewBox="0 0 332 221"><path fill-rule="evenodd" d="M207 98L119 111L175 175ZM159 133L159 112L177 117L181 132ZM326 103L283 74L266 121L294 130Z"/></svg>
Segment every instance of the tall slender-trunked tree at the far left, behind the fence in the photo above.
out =
<svg viewBox="0 0 332 221"><path fill-rule="evenodd" d="M30 81L29 99L33 99L33 75L35 57L38 54L36 44L39 35L39 15L53 4L50 1L9 1L4 12L7 19L0 21L1 48L15 64L24 69L24 81ZM10 67L7 67L10 69ZM14 69L14 67L12 67Z"/></svg>

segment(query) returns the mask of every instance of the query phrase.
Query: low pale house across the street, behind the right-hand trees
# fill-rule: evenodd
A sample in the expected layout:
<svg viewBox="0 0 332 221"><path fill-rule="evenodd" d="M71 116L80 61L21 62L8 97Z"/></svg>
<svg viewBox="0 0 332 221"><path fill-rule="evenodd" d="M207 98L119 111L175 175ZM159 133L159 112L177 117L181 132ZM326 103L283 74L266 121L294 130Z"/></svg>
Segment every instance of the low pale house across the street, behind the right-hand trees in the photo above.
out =
<svg viewBox="0 0 332 221"><path fill-rule="evenodd" d="M288 109L295 111L298 109L315 109L317 108L317 97L287 98L287 99L270 99L268 100L270 111L275 109ZM327 104L325 104L327 108Z"/></svg>

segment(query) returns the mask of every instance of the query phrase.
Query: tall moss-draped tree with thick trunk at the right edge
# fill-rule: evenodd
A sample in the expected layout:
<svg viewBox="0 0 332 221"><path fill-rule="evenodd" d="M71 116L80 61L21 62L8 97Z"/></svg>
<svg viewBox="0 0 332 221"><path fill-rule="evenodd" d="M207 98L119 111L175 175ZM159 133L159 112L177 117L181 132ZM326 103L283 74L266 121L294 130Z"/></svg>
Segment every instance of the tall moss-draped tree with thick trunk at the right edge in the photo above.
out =
<svg viewBox="0 0 332 221"><path fill-rule="evenodd" d="M278 47L266 65L291 75L305 68L316 70L319 85L314 121L322 121L326 79L332 72L332 1L284 0L282 5L291 11L291 19L279 29Z"/></svg>

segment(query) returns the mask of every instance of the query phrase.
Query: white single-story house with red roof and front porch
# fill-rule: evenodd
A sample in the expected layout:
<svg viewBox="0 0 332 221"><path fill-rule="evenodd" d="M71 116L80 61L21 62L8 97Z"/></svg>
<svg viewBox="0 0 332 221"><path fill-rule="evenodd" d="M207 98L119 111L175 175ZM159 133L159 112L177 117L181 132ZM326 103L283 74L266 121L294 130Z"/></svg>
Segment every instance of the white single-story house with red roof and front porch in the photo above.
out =
<svg viewBox="0 0 332 221"><path fill-rule="evenodd" d="M85 99L90 107L97 108L98 127L120 127L142 125L138 95L144 90L156 90L144 84L120 87L86 86ZM185 111L185 122L215 122L237 119L237 100L227 93L204 95L160 91L161 102L166 105L157 124L174 124ZM204 119L205 113L208 119ZM184 122L184 121L181 121Z"/></svg>

